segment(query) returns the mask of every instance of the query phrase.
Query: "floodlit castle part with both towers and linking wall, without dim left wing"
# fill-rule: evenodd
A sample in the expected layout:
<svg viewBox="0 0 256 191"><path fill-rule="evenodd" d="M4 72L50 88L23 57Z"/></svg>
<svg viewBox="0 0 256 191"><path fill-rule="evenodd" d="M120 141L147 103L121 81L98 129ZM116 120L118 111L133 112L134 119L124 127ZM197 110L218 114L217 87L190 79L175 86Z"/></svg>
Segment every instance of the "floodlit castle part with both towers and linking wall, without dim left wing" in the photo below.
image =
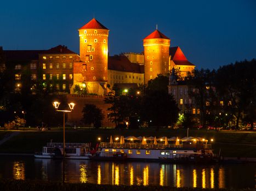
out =
<svg viewBox="0 0 256 191"><path fill-rule="evenodd" d="M74 85L84 83L89 93L104 95L107 83L144 84L157 74L167 74L171 68L187 71L195 65L187 61L180 47L170 48L170 39L156 29L143 40L144 53L124 53L108 56L109 29L92 19L79 29L80 62L74 63Z"/></svg>

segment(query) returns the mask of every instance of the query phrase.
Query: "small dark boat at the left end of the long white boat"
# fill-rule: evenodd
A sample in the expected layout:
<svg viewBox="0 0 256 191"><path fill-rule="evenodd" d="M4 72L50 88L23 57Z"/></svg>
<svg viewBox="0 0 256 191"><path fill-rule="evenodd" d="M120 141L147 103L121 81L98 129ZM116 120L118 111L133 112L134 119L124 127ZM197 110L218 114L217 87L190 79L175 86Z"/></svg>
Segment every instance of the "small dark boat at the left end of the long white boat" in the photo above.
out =
<svg viewBox="0 0 256 191"><path fill-rule="evenodd" d="M98 151L93 156L89 156L89 158L91 160L123 161L123 160L127 160L127 153Z"/></svg>

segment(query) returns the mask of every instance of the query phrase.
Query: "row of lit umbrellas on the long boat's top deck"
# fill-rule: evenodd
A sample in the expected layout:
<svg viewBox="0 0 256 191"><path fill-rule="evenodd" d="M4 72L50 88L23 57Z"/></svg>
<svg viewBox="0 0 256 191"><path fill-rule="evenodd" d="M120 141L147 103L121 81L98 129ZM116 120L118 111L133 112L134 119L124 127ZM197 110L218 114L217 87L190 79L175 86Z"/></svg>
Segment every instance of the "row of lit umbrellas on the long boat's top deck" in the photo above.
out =
<svg viewBox="0 0 256 191"><path fill-rule="evenodd" d="M116 139L116 140L119 140ZM200 138L200 137L197 137L197 138L194 138L192 136L189 136L189 137L184 137L184 138L181 138L179 139L177 136L173 136L171 138L167 138L167 136L162 136L161 138L156 138L153 137L153 136L149 136L149 137L145 137L145 136L127 136L126 138L124 138L124 136L121 136L120 137L120 144L124 144L124 141L127 140L127 141L141 141L141 144L145 145L147 144L147 141L153 141L153 144L154 145L157 145L157 141L161 141L161 143L164 143L164 145L168 145L168 141L173 141L173 143L175 142L175 145L179 145L180 141L181 142L186 142L186 141L194 141L194 142L203 142L203 143L207 143L208 140L204 139L204 138ZM113 139L112 139L112 135L110 136L110 144L113 144Z"/></svg>

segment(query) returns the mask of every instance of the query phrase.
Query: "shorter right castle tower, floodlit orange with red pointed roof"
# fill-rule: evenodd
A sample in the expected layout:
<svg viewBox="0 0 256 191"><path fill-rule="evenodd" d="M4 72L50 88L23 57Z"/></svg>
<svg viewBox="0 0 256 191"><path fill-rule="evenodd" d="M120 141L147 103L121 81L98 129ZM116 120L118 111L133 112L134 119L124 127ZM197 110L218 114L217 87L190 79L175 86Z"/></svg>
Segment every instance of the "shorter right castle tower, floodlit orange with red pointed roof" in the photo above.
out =
<svg viewBox="0 0 256 191"><path fill-rule="evenodd" d="M143 39L145 83L155 79L157 74L168 73L170 39L158 31Z"/></svg>

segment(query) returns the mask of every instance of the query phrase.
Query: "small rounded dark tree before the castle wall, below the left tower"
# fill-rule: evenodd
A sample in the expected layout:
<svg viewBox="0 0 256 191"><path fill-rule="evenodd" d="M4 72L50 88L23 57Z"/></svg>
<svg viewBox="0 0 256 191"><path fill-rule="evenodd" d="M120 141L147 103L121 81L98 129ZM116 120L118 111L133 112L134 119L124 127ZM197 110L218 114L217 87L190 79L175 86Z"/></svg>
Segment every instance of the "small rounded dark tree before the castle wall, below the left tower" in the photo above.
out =
<svg viewBox="0 0 256 191"><path fill-rule="evenodd" d="M101 127L101 121L104 115L101 109L97 108L94 104L86 104L82 110L83 121L86 124L93 124L95 128Z"/></svg>

